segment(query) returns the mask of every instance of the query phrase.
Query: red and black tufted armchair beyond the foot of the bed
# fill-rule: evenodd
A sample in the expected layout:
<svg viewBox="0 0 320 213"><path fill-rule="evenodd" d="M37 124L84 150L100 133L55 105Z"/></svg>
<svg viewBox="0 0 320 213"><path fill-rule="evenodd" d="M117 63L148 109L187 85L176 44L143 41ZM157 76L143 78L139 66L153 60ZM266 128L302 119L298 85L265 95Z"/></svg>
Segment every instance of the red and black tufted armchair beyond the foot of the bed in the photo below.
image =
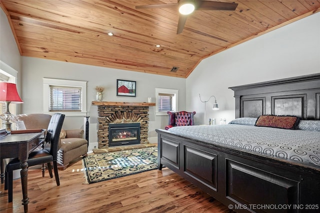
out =
<svg viewBox="0 0 320 213"><path fill-rule="evenodd" d="M169 115L168 125L165 126L165 130L170 129L171 127L175 126L193 126L193 116L195 115L195 112L186 112L186 111L180 111L180 112L167 112Z"/></svg>

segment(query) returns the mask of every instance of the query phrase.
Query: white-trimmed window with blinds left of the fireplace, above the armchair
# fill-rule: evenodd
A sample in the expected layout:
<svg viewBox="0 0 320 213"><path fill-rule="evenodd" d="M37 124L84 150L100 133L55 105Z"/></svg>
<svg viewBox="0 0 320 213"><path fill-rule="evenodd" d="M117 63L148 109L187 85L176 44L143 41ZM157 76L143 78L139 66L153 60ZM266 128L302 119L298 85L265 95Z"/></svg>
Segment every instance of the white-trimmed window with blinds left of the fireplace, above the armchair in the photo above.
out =
<svg viewBox="0 0 320 213"><path fill-rule="evenodd" d="M43 111L86 115L86 81L43 78Z"/></svg>

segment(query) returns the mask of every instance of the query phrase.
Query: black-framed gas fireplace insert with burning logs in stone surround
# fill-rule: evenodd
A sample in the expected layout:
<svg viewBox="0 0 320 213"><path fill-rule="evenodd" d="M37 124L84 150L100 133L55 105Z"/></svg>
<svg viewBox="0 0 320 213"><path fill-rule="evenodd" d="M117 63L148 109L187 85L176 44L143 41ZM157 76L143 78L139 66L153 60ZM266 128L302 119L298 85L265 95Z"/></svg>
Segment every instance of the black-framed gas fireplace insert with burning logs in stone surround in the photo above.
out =
<svg viewBox="0 0 320 213"><path fill-rule="evenodd" d="M109 124L109 146L140 144L140 123Z"/></svg>

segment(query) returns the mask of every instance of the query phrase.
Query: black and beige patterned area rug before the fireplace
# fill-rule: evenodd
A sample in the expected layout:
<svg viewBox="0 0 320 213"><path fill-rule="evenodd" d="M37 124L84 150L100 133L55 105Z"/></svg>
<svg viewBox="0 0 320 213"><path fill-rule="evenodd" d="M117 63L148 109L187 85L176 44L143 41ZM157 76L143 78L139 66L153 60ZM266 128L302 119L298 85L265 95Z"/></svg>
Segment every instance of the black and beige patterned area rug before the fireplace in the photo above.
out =
<svg viewBox="0 0 320 213"><path fill-rule="evenodd" d="M88 155L83 167L87 184L154 170L157 147Z"/></svg>

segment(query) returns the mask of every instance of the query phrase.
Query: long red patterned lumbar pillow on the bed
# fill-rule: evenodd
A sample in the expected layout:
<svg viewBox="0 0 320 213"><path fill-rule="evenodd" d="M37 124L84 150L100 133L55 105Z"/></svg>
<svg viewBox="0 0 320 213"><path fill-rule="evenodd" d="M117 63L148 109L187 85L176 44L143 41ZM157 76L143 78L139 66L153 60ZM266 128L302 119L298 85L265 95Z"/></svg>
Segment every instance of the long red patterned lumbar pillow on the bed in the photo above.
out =
<svg viewBox="0 0 320 213"><path fill-rule="evenodd" d="M296 116L261 115L256 120L254 126L295 129L299 123L299 120L300 119Z"/></svg>

